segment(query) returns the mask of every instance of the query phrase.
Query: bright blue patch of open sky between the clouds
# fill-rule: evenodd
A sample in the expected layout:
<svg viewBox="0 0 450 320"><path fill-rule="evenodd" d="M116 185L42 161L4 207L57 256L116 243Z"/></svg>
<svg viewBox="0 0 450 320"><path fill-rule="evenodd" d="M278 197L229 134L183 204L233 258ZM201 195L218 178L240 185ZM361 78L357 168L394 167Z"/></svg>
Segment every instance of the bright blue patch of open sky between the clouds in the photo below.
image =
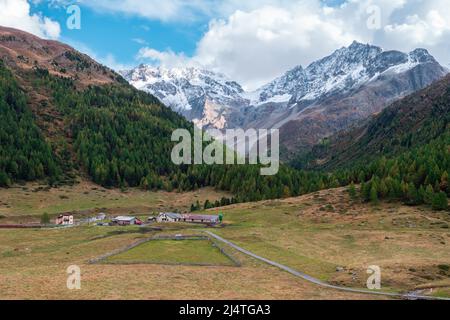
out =
<svg viewBox="0 0 450 320"><path fill-rule="evenodd" d="M65 6L49 6L44 1L33 5L32 13L41 13L59 22L60 41L95 54L102 60L112 56L119 66L135 65L138 62L136 55L143 46L161 51L170 48L192 55L208 25L208 20L203 19L183 23L162 22L135 15L102 13L83 5L80 7L80 30L67 28L66 20L69 15Z"/></svg>

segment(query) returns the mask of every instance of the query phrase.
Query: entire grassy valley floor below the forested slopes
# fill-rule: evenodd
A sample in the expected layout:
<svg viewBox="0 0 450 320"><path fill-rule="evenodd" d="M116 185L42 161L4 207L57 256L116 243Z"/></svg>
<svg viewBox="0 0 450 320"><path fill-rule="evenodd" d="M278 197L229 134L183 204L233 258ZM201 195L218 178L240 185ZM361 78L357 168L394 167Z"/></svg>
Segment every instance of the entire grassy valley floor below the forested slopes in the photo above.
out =
<svg viewBox="0 0 450 320"><path fill-rule="evenodd" d="M85 201L86 195L77 194L76 190L71 190L69 198ZM10 199L24 196L23 191L14 194L14 189L1 192ZM120 193L105 192L107 198ZM60 195L65 191L52 193ZM204 197L214 191L196 194ZM45 202L45 198L40 198L42 195L33 193L32 201L24 198L23 203L17 202L14 207L33 207L37 200ZM121 203L125 212L135 210L139 197L154 196L138 190L126 195L130 196L128 202ZM161 198L156 203L146 198L144 205L150 207L163 201L170 208L174 202L187 205L195 199L192 193L160 193L158 197ZM59 196L45 203L49 212L56 211L61 201L67 201L58 199ZM77 202L72 200L68 205L76 208ZM23 209L22 215L35 217L32 215L35 210ZM224 226L208 230L329 283L365 287L367 267L378 265L382 269L384 291L450 296L448 212L399 203L362 204L349 199L342 188L298 198L233 205L220 211L224 213ZM9 216L0 221L8 219ZM373 298L317 287L231 249L242 265L236 268L208 241L153 241L112 257L109 264L88 263L149 237L197 235L204 229L200 225L177 223L157 226L162 230L97 226L0 229L0 299ZM130 264L133 262L139 264ZM79 292L66 288L66 269L74 264L81 267L83 274Z"/></svg>

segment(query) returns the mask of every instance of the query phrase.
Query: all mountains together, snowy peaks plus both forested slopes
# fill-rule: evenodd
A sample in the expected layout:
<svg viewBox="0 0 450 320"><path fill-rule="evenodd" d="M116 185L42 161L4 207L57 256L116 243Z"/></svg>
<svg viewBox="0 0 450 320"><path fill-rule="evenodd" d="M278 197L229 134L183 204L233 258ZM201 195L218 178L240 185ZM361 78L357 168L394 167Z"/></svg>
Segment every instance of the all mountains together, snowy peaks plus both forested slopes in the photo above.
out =
<svg viewBox="0 0 450 320"><path fill-rule="evenodd" d="M126 76L160 88L156 96L70 46L0 27L0 187L79 179L180 192L212 186L233 194L219 206L353 182L365 201L447 208L450 76L423 49L383 52L355 42L253 93L208 71L139 69ZM160 101L167 88L184 101L171 105L177 112ZM175 165L173 131L194 131L179 114L186 112L220 115L218 123L192 119L219 128L279 127L300 145L290 161L297 168L285 163L261 176L258 165Z"/></svg>

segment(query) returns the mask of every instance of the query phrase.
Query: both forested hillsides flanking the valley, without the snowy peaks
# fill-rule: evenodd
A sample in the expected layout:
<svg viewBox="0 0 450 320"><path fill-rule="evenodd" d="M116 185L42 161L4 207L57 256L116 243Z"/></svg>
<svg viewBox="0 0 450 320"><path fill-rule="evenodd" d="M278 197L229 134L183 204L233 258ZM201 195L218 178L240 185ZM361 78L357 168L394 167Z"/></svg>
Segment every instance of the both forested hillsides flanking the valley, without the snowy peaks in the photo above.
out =
<svg viewBox="0 0 450 320"><path fill-rule="evenodd" d="M2 30L0 187L81 178L146 190L213 186L234 194L227 204L361 183L365 200L446 206L450 78L324 140L298 157L298 168L281 165L277 175L261 176L256 165L174 165L171 134L192 132L192 123L68 46Z"/></svg>

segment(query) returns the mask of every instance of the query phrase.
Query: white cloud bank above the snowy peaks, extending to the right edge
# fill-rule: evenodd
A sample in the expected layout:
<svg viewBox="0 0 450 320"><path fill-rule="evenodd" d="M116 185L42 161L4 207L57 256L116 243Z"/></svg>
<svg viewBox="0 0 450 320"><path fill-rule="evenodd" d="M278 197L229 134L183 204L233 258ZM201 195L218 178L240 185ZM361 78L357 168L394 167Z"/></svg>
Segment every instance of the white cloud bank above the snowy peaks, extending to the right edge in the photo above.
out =
<svg viewBox="0 0 450 320"><path fill-rule="evenodd" d="M306 66L353 40L402 51L424 47L444 65L450 60L450 15L444 14L448 0L348 0L334 8L320 0L239 3L223 1L212 10L219 16L232 13L211 20L192 58L170 50L145 48L146 52L153 61L167 66L180 61L201 64L249 89L291 67ZM377 30L367 24L371 6L380 9Z"/></svg>

